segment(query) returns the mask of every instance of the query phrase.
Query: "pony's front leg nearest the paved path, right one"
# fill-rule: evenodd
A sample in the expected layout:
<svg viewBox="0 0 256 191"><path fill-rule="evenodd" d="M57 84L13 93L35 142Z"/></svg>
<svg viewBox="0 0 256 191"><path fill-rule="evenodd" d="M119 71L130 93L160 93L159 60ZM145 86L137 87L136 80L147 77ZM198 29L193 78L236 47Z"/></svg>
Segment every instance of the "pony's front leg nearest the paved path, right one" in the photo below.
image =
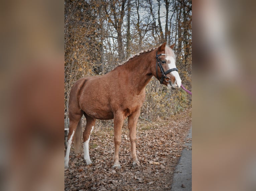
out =
<svg viewBox="0 0 256 191"><path fill-rule="evenodd" d="M137 126L139 115L140 115L140 109L138 109L128 117L128 128L129 128L129 136L130 136L130 142L131 142L131 157L133 159L132 165L134 167L139 165L139 160L136 154L136 126Z"/></svg>

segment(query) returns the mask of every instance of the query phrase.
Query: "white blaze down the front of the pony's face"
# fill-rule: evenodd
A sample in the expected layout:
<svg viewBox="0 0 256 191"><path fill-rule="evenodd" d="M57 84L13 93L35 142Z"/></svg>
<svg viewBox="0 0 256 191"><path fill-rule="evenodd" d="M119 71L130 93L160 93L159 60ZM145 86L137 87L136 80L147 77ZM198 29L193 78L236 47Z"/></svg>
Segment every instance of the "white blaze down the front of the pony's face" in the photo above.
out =
<svg viewBox="0 0 256 191"><path fill-rule="evenodd" d="M169 47L168 47L169 48ZM172 51L171 49L168 49L167 47L165 47L165 50L166 50L166 55L171 55L170 51ZM172 53L173 54L173 53ZM173 56L165 56L165 60L166 60L166 64L167 64L167 70L169 69L173 69L173 68L176 68L176 65L175 65L175 59ZM171 82L171 85L170 83L167 84L168 88L171 90L171 87L177 89L181 86L181 79L179 77L179 73L177 71L172 71L170 72L170 74L172 76L175 77L175 81L174 83Z"/></svg>

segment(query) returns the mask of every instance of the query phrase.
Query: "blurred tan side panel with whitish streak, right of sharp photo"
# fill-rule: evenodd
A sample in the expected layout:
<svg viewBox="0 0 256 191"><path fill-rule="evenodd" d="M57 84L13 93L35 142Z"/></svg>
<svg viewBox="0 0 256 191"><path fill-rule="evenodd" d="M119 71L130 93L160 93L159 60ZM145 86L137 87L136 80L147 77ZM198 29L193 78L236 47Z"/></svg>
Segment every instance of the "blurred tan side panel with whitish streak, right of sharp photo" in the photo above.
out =
<svg viewBox="0 0 256 191"><path fill-rule="evenodd" d="M256 190L252 7L254 1L193 1L192 189L196 191Z"/></svg>

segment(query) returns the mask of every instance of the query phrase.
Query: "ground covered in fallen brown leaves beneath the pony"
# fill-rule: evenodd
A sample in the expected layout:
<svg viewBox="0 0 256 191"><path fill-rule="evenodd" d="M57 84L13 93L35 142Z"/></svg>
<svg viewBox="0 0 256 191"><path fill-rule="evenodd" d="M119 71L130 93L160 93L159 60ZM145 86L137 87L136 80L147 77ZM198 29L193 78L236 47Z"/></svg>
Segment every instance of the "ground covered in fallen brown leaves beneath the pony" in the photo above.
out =
<svg viewBox="0 0 256 191"><path fill-rule="evenodd" d="M127 120L126 120L127 122ZM191 127L191 109L168 120L149 122L139 120L136 151L140 166L133 167L130 158L129 130L122 129L119 150L121 169L113 169L114 131L109 123L102 123L91 135L90 157L86 165L83 151L74 153L71 148L69 169L65 171L65 190L170 190L173 172L185 148L184 143ZM187 148L192 149L192 148ZM65 150L66 151L66 150ZM66 152L65 152L66 153Z"/></svg>

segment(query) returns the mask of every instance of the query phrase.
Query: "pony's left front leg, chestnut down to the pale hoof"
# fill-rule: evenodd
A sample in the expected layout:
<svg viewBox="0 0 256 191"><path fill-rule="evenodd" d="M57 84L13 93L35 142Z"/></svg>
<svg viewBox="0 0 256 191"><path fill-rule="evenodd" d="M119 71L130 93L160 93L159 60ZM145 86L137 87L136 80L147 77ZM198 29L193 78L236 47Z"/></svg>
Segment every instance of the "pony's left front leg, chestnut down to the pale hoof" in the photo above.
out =
<svg viewBox="0 0 256 191"><path fill-rule="evenodd" d="M114 166L113 168L121 168L119 163L119 147L121 143L121 130L124 123L123 112L116 112L114 114L114 142L115 142L115 153L113 156Z"/></svg>

